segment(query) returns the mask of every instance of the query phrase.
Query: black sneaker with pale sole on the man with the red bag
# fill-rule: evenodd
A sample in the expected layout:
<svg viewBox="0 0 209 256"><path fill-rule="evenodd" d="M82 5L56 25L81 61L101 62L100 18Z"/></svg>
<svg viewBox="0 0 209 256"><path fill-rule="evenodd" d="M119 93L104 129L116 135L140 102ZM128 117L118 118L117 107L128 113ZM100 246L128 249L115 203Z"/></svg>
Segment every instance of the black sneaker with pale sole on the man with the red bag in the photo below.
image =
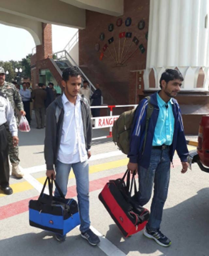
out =
<svg viewBox="0 0 209 256"><path fill-rule="evenodd" d="M143 230L143 234L151 239L154 239L158 245L168 247L171 245L171 241L168 237L166 237L159 229L157 230L149 230L147 227Z"/></svg>

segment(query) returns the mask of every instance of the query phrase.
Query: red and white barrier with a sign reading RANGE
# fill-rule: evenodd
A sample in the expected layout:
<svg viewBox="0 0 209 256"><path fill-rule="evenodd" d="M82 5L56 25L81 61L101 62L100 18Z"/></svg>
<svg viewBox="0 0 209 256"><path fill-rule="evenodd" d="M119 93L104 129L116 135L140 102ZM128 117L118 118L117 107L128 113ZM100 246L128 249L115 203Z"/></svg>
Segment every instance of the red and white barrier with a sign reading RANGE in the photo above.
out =
<svg viewBox="0 0 209 256"><path fill-rule="evenodd" d="M125 108L125 107L134 107L136 108L137 105L107 105L107 106L91 106L91 109L104 109L108 108L110 110L109 116L99 116L99 117L92 117L91 119L94 120L94 127L93 129L101 129L101 128L108 128L109 127L109 135L101 136L93 138L92 140L99 140L99 139L106 139L112 137L112 127L115 120L118 119L119 115L113 115L114 108Z"/></svg>

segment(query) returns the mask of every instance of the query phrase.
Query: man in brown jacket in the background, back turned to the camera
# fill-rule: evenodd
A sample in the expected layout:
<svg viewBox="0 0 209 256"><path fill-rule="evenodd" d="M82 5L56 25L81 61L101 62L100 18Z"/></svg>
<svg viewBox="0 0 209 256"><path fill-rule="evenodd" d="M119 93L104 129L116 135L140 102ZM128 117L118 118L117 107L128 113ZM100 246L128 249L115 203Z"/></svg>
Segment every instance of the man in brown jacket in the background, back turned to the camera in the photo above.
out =
<svg viewBox="0 0 209 256"><path fill-rule="evenodd" d="M44 128L45 126L45 107L44 102L47 97L47 93L42 89L43 83L38 84L38 89L33 90L31 97L34 99L33 107L36 115L37 129Z"/></svg>

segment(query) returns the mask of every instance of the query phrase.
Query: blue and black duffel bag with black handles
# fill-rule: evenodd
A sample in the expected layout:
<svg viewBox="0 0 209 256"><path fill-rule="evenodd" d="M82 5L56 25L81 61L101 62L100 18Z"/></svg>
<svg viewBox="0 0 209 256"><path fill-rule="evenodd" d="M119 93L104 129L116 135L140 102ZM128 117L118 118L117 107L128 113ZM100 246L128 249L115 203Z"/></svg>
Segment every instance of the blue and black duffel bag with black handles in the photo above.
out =
<svg viewBox="0 0 209 256"><path fill-rule="evenodd" d="M44 194L46 182L49 195ZM80 224L77 202L66 199L54 180L60 197L52 196L53 180L46 178L38 200L29 201L30 226L65 235Z"/></svg>

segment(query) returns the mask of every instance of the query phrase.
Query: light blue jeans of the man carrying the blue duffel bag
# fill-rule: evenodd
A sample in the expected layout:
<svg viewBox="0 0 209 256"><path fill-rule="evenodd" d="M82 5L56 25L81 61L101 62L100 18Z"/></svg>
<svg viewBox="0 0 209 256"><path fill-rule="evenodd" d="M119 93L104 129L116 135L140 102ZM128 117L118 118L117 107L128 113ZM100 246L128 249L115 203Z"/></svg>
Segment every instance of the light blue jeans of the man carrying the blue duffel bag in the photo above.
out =
<svg viewBox="0 0 209 256"><path fill-rule="evenodd" d="M81 220L80 231L85 232L90 227L88 160L72 164L62 163L57 160L56 182L64 196L67 194L67 185L71 167L76 179L78 208ZM57 189L55 189L55 196L60 196Z"/></svg>

